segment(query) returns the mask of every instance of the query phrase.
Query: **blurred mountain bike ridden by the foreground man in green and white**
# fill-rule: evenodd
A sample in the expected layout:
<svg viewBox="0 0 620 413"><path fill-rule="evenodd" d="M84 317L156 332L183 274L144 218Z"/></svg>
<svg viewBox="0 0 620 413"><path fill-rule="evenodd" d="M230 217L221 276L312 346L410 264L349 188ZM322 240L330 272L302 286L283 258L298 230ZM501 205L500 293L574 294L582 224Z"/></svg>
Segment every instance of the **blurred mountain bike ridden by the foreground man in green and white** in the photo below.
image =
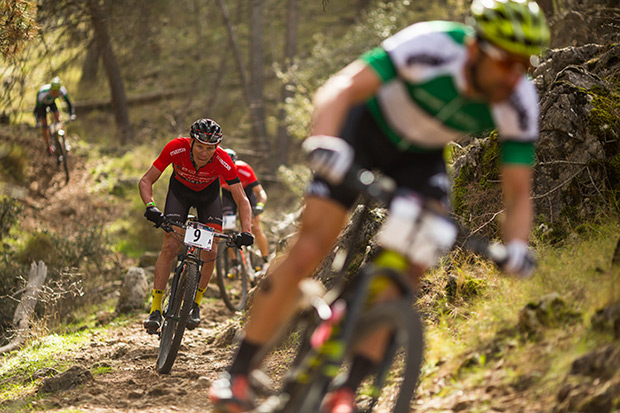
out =
<svg viewBox="0 0 620 413"><path fill-rule="evenodd" d="M377 177L370 171L356 170L349 173L346 181L357 188L363 196L362 214L368 214L370 200L381 204L388 204L396 196L396 188L388 178ZM399 195L400 196L400 195ZM415 199L415 198L412 198ZM427 233L424 222L434 221L435 231L449 231L445 217L432 209L420 199L413 207L418 208L420 226L417 233ZM358 226L367 215L358 220ZM422 219L423 218L423 219ZM387 223L386 223L387 224ZM386 229L387 226L384 226ZM455 227L456 228L456 227ZM389 233L385 231L382 237L403 239L401 231ZM428 229L428 228L427 228ZM359 229L358 229L359 230ZM355 230L354 230L355 231ZM431 231L433 233L435 231ZM254 371L251 375L257 389L267 399L257 411L260 412L318 412L324 396L338 387L346 375L347 364L355 354L356 345L375 334L378 330L389 331L389 343L384 352L382 362L379 363L374 379L369 388L365 388L368 396L364 406L358 406L360 411L392 411L409 412L410 402L418 385L420 370L423 362L424 340L423 327L420 316L415 310L415 293L405 277L405 271L411 261L411 254L437 256L445 253L452 247L456 233L447 237L443 245L429 248L431 238L419 238L417 233L408 232L407 239L411 245L403 253L392 249L382 249L367 264L357 271L357 276L350 281L344 280L344 271L338 274L335 286L325 294L317 294L316 288L308 288L313 280L306 280L300 286L303 300L306 304L296 322L305 327L297 349L296 357L289 369L284 383L279 389L266 382L265 375ZM418 238L416 238L418 237ZM355 236L352 237L356 239ZM441 240L435 240L440 243ZM388 243L389 244L389 243ZM501 265L507 253L503 246L490 244L476 238L463 244L466 249L481 253L487 258ZM424 256L419 256L419 254ZM428 258L428 257L426 257ZM345 260L350 262L350 258ZM344 266L346 268L346 264ZM400 293L398 298L389 301L379 301L375 297L387 286L394 286ZM290 331L290 327L281 331ZM256 360L262 360L265 354L275 344L269 343L257 355ZM258 362L257 362L258 363ZM257 364L255 363L255 364ZM383 389L387 386L398 386L393 397L382 398Z"/></svg>

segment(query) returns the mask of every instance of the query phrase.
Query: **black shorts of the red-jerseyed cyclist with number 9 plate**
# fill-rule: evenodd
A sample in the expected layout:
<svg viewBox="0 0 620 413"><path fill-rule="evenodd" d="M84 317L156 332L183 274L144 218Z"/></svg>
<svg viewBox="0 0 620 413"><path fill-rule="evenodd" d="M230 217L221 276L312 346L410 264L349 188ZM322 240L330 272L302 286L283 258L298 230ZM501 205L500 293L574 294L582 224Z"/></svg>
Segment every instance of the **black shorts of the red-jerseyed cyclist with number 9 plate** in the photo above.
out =
<svg viewBox="0 0 620 413"><path fill-rule="evenodd" d="M189 209L196 208L198 221L217 231L222 230L222 199L220 198L220 181L216 179L202 191L189 189L177 181L174 174L170 177L168 195L166 196L166 218L184 223Z"/></svg>

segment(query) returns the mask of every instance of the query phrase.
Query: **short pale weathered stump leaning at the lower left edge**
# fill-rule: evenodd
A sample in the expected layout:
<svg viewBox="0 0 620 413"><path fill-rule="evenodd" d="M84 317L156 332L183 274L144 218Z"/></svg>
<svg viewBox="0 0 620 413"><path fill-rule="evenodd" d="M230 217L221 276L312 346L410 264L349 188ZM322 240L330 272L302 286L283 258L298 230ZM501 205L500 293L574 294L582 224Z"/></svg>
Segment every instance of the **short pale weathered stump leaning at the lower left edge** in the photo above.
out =
<svg viewBox="0 0 620 413"><path fill-rule="evenodd" d="M15 315L13 316L13 327L15 327L15 337L9 344L4 347L0 347L0 354L7 353L9 351L17 350L26 341L28 337L28 330L30 326L30 319L34 312L34 307L39 299L39 292L41 287L45 283L47 277L47 266L43 261L39 261L38 264L30 264L30 273L28 274L28 284L26 285L26 291L22 296L21 301L15 309Z"/></svg>

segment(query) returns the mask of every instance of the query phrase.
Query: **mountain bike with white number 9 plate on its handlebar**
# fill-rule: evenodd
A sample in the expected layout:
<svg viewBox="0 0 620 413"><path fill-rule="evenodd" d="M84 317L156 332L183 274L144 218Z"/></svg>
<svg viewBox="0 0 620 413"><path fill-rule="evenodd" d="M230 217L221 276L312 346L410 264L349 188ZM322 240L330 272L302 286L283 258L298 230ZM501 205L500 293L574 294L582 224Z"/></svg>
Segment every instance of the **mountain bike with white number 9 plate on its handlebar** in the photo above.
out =
<svg viewBox="0 0 620 413"><path fill-rule="evenodd" d="M175 227L185 230L185 234L178 232ZM150 334L159 334L159 352L157 355L157 371L162 374L170 372L176 359L185 326L189 319L203 261L200 259L202 250L210 251L215 238L224 239L226 244L234 245L234 235L223 234L196 221L190 216L185 224L164 221L161 228L173 234L174 238L185 245L185 251L178 256L178 264L170 289L164 296L164 323L161 330L148 331Z"/></svg>

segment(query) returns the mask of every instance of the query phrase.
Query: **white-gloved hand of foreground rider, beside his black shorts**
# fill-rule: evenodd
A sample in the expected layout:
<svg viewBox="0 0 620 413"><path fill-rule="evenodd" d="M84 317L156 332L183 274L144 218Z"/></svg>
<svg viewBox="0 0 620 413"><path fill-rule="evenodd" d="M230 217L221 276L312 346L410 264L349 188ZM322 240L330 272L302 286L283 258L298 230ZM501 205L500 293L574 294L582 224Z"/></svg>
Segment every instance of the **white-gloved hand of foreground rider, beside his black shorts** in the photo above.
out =
<svg viewBox="0 0 620 413"><path fill-rule="evenodd" d="M302 144L314 172L329 183L338 185L353 163L353 148L344 139L311 136Z"/></svg>

